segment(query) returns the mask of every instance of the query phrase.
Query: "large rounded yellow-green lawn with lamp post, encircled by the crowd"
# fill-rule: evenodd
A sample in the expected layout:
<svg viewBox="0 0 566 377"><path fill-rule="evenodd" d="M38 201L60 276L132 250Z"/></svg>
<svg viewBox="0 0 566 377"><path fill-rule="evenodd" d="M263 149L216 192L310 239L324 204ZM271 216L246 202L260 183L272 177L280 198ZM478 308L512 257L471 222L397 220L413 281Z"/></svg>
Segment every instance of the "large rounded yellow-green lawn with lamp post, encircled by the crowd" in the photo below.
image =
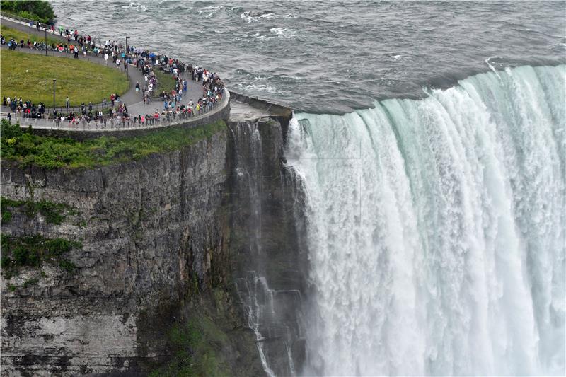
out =
<svg viewBox="0 0 566 377"><path fill-rule="evenodd" d="M126 74L118 69L82 59L50 57L18 51L2 51L0 62L2 96L21 97L34 103L53 105L53 79L57 106L81 102L100 103L112 93L123 94L129 88Z"/></svg>

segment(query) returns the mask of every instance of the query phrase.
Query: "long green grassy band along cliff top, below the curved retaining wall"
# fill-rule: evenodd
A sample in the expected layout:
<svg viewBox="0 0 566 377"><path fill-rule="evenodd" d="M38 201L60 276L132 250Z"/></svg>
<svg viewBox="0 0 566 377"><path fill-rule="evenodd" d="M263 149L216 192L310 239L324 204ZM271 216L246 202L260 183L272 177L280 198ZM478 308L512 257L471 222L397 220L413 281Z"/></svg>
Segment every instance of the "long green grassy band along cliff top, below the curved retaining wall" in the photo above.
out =
<svg viewBox="0 0 566 377"><path fill-rule="evenodd" d="M1 157L17 161L21 166L40 168L94 168L138 160L152 153L190 146L226 129L226 123L218 121L190 129L161 129L127 139L99 137L75 141L23 132L18 125L8 124L6 120L2 120L1 124Z"/></svg>

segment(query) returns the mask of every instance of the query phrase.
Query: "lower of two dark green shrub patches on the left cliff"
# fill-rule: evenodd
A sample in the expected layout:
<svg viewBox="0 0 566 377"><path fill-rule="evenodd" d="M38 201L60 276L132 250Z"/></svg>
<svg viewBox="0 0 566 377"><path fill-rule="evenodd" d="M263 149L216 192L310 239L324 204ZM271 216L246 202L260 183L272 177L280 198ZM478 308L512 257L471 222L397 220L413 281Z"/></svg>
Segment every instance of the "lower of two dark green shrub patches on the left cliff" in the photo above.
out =
<svg viewBox="0 0 566 377"><path fill-rule="evenodd" d="M82 248L81 243L64 238L45 238L44 236L6 236L1 235L1 268L4 277L10 279L21 267L39 268L43 262L58 262L62 269L72 273L76 266L62 255L74 248Z"/></svg>

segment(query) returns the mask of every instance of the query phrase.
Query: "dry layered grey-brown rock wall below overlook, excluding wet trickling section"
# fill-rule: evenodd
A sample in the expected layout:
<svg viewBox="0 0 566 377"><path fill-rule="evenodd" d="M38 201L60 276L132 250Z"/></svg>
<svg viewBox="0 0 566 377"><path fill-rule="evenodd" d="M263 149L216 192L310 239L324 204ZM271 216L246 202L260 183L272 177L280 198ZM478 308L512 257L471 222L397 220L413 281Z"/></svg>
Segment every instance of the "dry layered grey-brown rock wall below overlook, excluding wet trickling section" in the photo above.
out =
<svg viewBox="0 0 566 377"><path fill-rule="evenodd" d="M1 195L65 203L60 225L13 211L4 235L79 240L56 264L2 279L2 375L144 370L165 352L166 328L195 284L229 276L221 226L226 134L180 151L92 170L18 168L3 161ZM76 212L76 213L75 213ZM30 279L37 284L24 288ZM155 315L159 318L156 320Z"/></svg>

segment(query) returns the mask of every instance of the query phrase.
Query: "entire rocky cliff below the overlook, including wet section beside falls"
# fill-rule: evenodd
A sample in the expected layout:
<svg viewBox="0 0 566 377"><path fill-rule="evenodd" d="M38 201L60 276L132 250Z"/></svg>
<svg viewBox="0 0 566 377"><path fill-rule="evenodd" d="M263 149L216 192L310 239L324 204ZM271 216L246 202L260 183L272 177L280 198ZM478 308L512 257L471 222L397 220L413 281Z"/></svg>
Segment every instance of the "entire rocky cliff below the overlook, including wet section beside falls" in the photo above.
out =
<svg viewBox="0 0 566 377"><path fill-rule="evenodd" d="M58 225L14 207L3 237L81 245L63 255L73 269L53 259L9 279L3 269L2 376L145 373L171 361L171 329L188 322L215 326L214 344L201 348L219 355L212 364L220 371L260 375L264 353L277 372L294 372L287 354L300 362L304 352L296 318L303 282L282 151L282 127L266 119L93 170L4 161L2 197L67 207ZM263 306L265 296L243 286L269 274L288 311L254 322L250 300ZM264 335L273 346L257 342Z"/></svg>

